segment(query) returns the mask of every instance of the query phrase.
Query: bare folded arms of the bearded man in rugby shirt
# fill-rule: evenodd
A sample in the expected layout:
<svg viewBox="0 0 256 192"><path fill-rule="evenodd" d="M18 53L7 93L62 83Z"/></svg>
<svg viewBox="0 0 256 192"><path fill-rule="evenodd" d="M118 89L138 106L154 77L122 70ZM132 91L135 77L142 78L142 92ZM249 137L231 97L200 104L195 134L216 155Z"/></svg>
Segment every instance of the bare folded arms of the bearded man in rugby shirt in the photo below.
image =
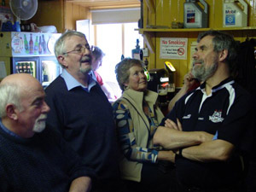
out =
<svg viewBox="0 0 256 192"><path fill-rule="evenodd" d="M182 125L166 120L166 126L160 126L154 134L154 143L164 148L182 148L182 156L201 162L228 160L234 150L232 143L221 139L212 140L213 135L204 131L182 131ZM176 154L180 154L177 150Z"/></svg>

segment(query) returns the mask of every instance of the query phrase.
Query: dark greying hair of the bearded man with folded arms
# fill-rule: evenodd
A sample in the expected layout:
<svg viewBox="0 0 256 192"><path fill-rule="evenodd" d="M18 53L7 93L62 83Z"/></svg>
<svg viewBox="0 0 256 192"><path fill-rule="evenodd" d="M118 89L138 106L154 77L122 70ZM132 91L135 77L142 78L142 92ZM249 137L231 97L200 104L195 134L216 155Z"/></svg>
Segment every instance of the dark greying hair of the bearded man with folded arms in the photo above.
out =
<svg viewBox="0 0 256 192"><path fill-rule="evenodd" d="M212 44L214 46L214 51L219 52L224 49L228 50L227 58L225 59L225 62L228 64L230 68L230 73L234 73L237 68L237 48L238 43L235 41L235 39L230 36L230 34L224 33L224 32L218 32L214 30L210 30L207 32L202 32L198 38L197 42L199 43L202 38L205 38L206 36L212 36Z"/></svg>

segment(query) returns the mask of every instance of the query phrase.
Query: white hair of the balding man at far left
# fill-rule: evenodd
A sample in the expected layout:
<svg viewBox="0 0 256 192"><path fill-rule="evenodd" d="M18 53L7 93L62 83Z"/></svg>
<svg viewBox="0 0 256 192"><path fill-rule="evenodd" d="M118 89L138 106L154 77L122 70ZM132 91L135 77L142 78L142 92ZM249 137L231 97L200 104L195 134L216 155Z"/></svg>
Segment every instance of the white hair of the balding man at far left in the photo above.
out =
<svg viewBox="0 0 256 192"><path fill-rule="evenodd" d="M6 117L5 108L10 103L21 111L20 98L20 87L17 84L0 84L0 118Z"/></svg>

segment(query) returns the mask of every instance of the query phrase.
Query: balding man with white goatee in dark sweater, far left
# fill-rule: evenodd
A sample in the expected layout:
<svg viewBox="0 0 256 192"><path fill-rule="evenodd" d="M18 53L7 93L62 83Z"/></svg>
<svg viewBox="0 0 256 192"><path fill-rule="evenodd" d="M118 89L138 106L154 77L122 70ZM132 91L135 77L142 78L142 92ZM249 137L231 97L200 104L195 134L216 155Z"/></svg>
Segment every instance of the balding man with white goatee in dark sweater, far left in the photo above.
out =
<svg viewBox="0 0 256 192"><path fill-rule="evenodd" d="M0 84L0 191L90 191L95 172L45 129L44 89L25 73Z"/></svg>

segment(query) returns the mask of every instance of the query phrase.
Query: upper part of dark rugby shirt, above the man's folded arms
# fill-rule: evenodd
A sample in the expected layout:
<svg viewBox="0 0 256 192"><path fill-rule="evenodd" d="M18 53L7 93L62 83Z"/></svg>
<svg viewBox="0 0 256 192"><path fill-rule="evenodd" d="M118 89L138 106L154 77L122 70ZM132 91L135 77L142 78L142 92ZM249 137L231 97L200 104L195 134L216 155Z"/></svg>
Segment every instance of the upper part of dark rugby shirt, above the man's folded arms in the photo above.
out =
<svg viewBox="0 0 256 192"><path fill-rule="evenodd" d="M179 119L183 131L206 131L215 135L214 139L236 146L247 131L251 96L230 78L213 87L208 96L205 86L201 84L183 96L165 119ZM165 124L165 119L160 125Z"/></svg>

